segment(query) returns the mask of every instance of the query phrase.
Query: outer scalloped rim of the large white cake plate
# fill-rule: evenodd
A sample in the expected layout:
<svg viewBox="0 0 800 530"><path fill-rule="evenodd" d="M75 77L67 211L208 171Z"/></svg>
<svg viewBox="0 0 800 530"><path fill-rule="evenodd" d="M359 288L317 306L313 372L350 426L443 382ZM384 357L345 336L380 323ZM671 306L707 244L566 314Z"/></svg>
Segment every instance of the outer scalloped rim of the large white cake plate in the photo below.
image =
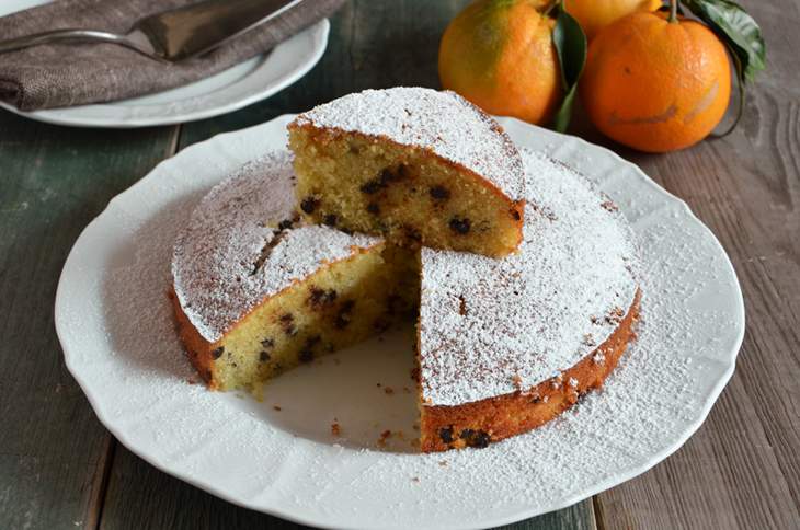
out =
<svg viewBox="0 0 800 530"><path fill-rule="evenodd" d="M215 137L213 137L213 138L210 138L208 140L205 140L203 142L194 143L194 145L187 147L186 149L184 149L183 151L179 152L173 158L167 159L167 160L160 162L151 171L151 173L155 172L155 171L157 171L157 169L159 166L163 165L163 164L176 163L175 162L175 159L178 157L180 157L181 154L183 154L183 153L190 153L191 154L191 151L193 151L193 150L208 149L212 146L214 146L215 143L224 142L224 141L228 140L228 139L235 138L237 135L241 134L242 131L250 130L250 129L254 129L254 128L258 128L258 127L263 127L263 126L266 126L267 124L271 124L273 122L281 122L281 120L283 120L283 122L286 122L287 123L295 115L292 115L292 114L278 116L278 117L276 117L276 118L274 118L274 119L272 119L270 122L266 122L264 124L261 124L261 125L256 125L256 126L253 126L253 127L249 127L247 129L241 129L239 131L224 132L224 134L217 135L217 136L215 136ZM732 263L730 261L730 257L728 256L727 252L724 251L724 249L722 247L721 243L716 238L716 235L713 234L713 232L711 232L711 230L702 221L700 221L694 215L694 212L692 211L692 209L689 208L689 206L683 199L676 197L675 195L671 194L670 192L667 192L666 189L664 189L663 187L661 187L658 183L655 183L652 178L650 178L641 169L639 169L639 166L637 166L636 164L633 164L631 162L626 161L625 159L622 159L621 157L619 157L614 151L610 151L609 149L606 149L606 148L601 147L601 146L593 145L593 143L587 142L587 141L579 138L579 137L574 137L574 136L571 136L571 135L563 135L563 134L560 134L560 132L555 132L555 131L549 130L549 129L545 129L545 128L541 128L541 127L538 127L538 126L534 126L534 125L530 125L530 124L521 122L521 120L518 120L516 118L498 117L498 119L506 128L510 125L511 126L518 126L518 127L532 128L532 129L536 130L538 134L544 134L545 136L547 136L547 137L556 140L556 141L561 141L561 142L568 141L568 140L569 141L576 141L583 148L590 148L590 149L593 149L593 150L595 150L597 152L602 152L604 155L609 155L609 157L612 157L614 159L614 161L616 163L630 166L635 171L635 173L641 178L642 182L644 182L645 184L648 184L651 188L653 188L658 193L662 194L664 196L664 199L665 200L672 201L674 204L679 205L681 206L681 209L682 209L682 212L693 223L696 223L697 226L702 227L702 229L707 232L707 235L709 235L711 238L711 240L716 243L716 245L718 247L718 251L720 252L720 254L722 256L724 256L723 265L725 265L728 267L729 273L732 275L733 279L735 280L736 308L735 308L735 323L734 323L734 325L738 327L738 333L736 333L736 337L733 341L733 347L731 347L730 350L727 353L727 355L723 358L720 359L721 361L724 361L724 370L719 373L719 377L718 377L716 383L708 390L707 394L705 395L705 399L702 400L702 406L699 407L696 411L696 416L694 417L694 419L690 423L687 423L686 424L686 426L683 428L683 431L682 431L681 436L677 437L673 443L664 447L662 450L658 451L656 453L651 454L651 457L650 457L650 459L648 461L642 462L638 466L631 466L628 470L626 470L626 472L624 472L624 473L618 473L618 474L615 474L613 476L609 476L608 479L596 483L593 487L588 487L588 488L586 488L586 489L584 489L584 491L582 491L580 493L576 493L574 495L565 496L565 497L561 498L559 502L553 502L553 503L551 503L548 506L545 506L545 507L539 506L539 507L536 507L536 508L532 508L529 510L521 510L521 511L517 511L517 512L514 512L514 514L510 514L510 515L507 515L505 517L493 517L493 518L490 518L490 519L487 519L487 520L478 520L478 521L472 520L469 523L464 523L464 525L448 525L446 527L446 528L453 528L453 529L461 529L461 528L464 528L464 529L467 529L467 528L485 528L485 527L490 527L490 526L507 525L507 523L518 522L521 520L525 520L525 519L528 519L528 518L532 518L532 517L536 517L536 516L539 516L539 515L544 515L544 514L547 514L547 512L550 512L550 511L560 510L560 509L567 508L569 506L572 506L572 505L574 505L574 504L576 504L579 502L585 500L586 498L590 498L590 497L592 497L592 496L594 496L594 495L596 495L596 494L598 494L601 492L604 492L604 491L609 489L609 488L612 488L614 486L617 486L617 485L619 485L619 484L621 484L624 482L627 482L627 481L629 481L629 480L631 480L631 479L633 479L633 477L636 477L636 476L638 476L638 475L647 472L648 470L652 469L654 465L661 463L667 457L670 457L675 451L677 451L677 449L679 449L699 429L699 427L702 425L702 423L708 417L708 414L710 413L713 404L718 400L719 395L721 394L722 390L724 389L724 387L727 385L727 383L730 381L730 379L731 379L731 377L732 377L732 375L734 372L736 357L738 357L739 350L741 348L742 342L744 339L744 333L745 333L744 299L743 299L743 295L742 295L742 290L741 290L741 285L739 283L739 278L738 278L738 276L735 274L735 269L733 268L733 265L732 265ZM184 154L184 155L186 155L186 154ZM152 456L148 454L146 451L142 451L139 448L135 447L135 445L132 443L130 440L125 436L125 433L123 433L122 430L119 430L114 425L114 423L112 420L110 420L107 417L105 417L103 415L102 407L100 406L98 396L92 393L92 390L91 390L91 388L88 384L88 381L83 378L83 376L81 375L79 368L77 366L75 366L71 362L71 360L70 360L70 358L75 358L75 355L70 355L70 347L69 347L67 341L65 339L65 337L67 335L66 335L66 330L64 329L64 321L62 321L62 319L59 318L59 313L60 313L60 309L59 308L64 308L65 307L65 300L64 300L65 274L64 273L65 273L65 270L67 270L67 268L68 268L67 265L69 264L69 262L71 260L75 260L73 254L77 253L77 250L80 250L79 249L80 247L80 243L81 243L81 240L83 239L84 234L92 227L96 226L96 223L99 222L99 220L106 212L108 212L112 204L114 204L116 201L121 201L122 198L126 194L132 193L138 186L142 186L144 185L142 183L144 183L144 181L146 178L147 178L147 176L144 177L144 178L141 178L141 180L139 180L138 182L136 182L135 184L133 184L129 188L127 188L126 191L122 192L121 194L118 194L117 196L115 196L114 198L112 198L112 200L108 203L108 206L106 206L106 208L96 218L94 218L85 227L85 229L81 232L81 235L76 240L76 243L75 243L72 250L70 251L70 254L68 255L68 257L67 257L67 260L65 262L65 266L64 266L61 276L59 278L58 288L57 288L57 291L56 291L56 299L55 299L55 326L56 326L56 333L58 335L59 342L60 342L61 347L64 349L65 362L66 362L66 366L67 366L68 370L70 371L70 373L76 379L76 381L78 381L79 385L81 387L81 389L83 390L84 394L87 395L87 399L89 400L92 408L94 410L95 414L98 415L98 418L117 438L117 440L119 442L122 442L128 450L130 450L132 452L134 452L135 454L137 454L139 458L141 458L142 460L145 460L149 464L153 465L155 468L159 469L160 471L162 471L164 473L168 473L168 474L170 474L172 476L175 476L175 477L178 477L178 479L180 479L180 480L182 480L182 481L184 481L184 482L186 482L188 484L192 484L195 487L198 487L198 488L201 488L201 489L203 489L203 491L205 491L205 492L207 492L207 493L209 493L212 495L215 495L215 496L217 496L219 498L222 498L222 499L225 499L225 500L227 500L229 503L232 503L232 504L235 504L237 506L241 506L241 507L248 508L248 509L258 510L258 511L261 511L261 512L264 512L264 514L268 514L268 515L273 515L273 516L276 516L276 517L281 517L283 519L286 519L286 520L289 520L289 521L293 521L293 522L302 523L302 525L309 525L309 526L313 526L313 527L317 527L317 528L352 528L352 529L374 528L374 527L369 527L369 526L359 526L359 525L351 525L351 526L346 526L346 527L342 527L341 525L332 526L330 523L327 523L323 520L319 520L319 519L316 519L313 517L305 517L302 515L298 515L298 514L295 514L295 512L292 512L292 511L288 511L288 510L284 510L279 506L268 506L268 507L261 506L261 505L256 505L255 503L248 503L248 502L244 502L244 500L242 500L240 498L237 498L235 496L231 496L225 489L219 488L219 487L216 487L214 484L203 482L202 480L197 479L196 476L193 476L191 473L183 473L183 472L180 472L180 471L170 469L169 465L163 464L162 462L159 462L157 459L152 458ZM425 526L423 528L443 528L443 527L435 526L435 525L431 525L431 526Z"/></svg>

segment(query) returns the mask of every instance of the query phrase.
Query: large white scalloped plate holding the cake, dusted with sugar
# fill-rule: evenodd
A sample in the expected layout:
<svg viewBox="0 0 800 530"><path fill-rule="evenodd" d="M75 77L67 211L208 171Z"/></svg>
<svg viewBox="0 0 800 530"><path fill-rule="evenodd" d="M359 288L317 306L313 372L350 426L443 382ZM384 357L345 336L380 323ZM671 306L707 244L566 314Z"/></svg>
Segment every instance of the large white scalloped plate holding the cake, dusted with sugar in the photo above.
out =
<svg viewBox="0 0 800 530"><path fill-rule="evenodd" d="M517 143L595 181L639 238L639 339L602 391L487 449L418 454L414 396L403 390L413 387L409 331L282 376L263 403L191 384L165 296L175 231L212 185L265 149L283 149L290 118L217 136L162 162L110 203L67 260L55 310L67 366L127 448L231 503L308 525L477 528L627 481L700 426L733 373L744 334L742 293L724 251L637 166L507 118L501 122ZM341 438L331 434L334 418ZM402 437L379 447L384 429Z"/></svg>

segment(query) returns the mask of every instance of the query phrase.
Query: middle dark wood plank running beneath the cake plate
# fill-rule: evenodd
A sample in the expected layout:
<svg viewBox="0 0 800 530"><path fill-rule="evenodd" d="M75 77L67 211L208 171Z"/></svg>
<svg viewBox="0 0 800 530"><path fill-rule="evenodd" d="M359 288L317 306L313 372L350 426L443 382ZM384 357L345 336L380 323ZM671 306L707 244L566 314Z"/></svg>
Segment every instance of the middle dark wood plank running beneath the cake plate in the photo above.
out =
<svg viewBox="0 0 800 530"><path fill-rule="evenodd" d="M366 88L438 87L436 50L447 22L467 2L351 1L332 20L320 64L265 102L183 126L180 148L229 130L300 112ZM410 44L411 43L411 44ZM504 528L594 529L591 500ZM155 470L119 448L103 510L104 528L294 528L236 507Z"/></svg>

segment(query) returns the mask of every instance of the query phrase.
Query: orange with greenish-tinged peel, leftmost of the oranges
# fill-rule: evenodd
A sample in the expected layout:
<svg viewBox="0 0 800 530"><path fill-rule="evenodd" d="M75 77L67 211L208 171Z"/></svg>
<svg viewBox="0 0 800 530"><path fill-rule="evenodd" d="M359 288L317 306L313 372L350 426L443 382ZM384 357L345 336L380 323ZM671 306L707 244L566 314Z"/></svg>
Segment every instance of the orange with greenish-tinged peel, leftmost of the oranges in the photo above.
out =
<svg viewBox="0 0 800 530"><path fill-rule="evenodd" d="M555 21L546 0L478 0L442 36L442 85L490 114L540 124L561 100L561 73L552 45Z"/></svg>

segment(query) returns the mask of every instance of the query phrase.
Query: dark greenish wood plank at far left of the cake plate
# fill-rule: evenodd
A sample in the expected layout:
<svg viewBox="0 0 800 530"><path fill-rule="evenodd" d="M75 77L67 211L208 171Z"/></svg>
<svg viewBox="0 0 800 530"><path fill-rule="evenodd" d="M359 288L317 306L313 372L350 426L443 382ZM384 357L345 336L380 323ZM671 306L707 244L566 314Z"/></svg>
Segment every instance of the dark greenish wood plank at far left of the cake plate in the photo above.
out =
<svg viewBox="0 0 800 530"><path fill-rule="evenodd" d="M53 301L67 254L174 128L46 126L0 112L0 528L94 528L111 436L67 372Z"/></svg>

